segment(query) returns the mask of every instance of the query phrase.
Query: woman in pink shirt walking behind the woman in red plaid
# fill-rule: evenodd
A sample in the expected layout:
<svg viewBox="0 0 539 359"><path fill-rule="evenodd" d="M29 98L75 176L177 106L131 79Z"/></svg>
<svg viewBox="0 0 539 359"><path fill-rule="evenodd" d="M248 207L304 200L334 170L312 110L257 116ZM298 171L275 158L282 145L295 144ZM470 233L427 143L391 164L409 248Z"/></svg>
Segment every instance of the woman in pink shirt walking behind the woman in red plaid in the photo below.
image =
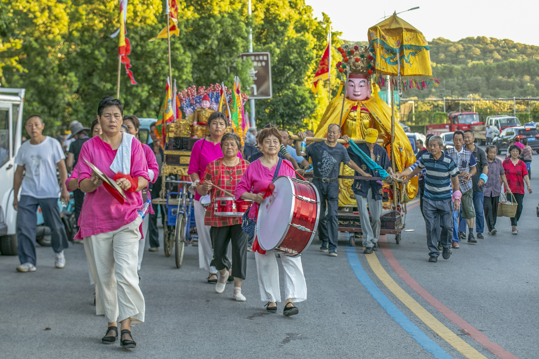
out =
<svg viewBox="0 0 539 359"><path fill-rule="evenodd" d="M208 164L211 161L223 157L221 138L223 138L223 135L226 132L227 123L228 121L223 112L213 112L208 118L210 136L199 139L195 142L195 145L193 145L188 173L191 177L191 181L195 182L195 186L198 184L198 181L201 180L202 174L206 170L206 167L208 167ZM241 158L239 153L238 157ZM204 225L206 211L204 210L204 206L202 206L200 199L201 195L195 193L193 207L195 210L195 223L197 224L198 234L198 265L200 268L204 268L210 273L208 283L217 284L217 269L215 266L210 266L213 259L213 248L211 246L210 238L211 226ZM233 280L232 276L229 276L229 278Z"/></svg>

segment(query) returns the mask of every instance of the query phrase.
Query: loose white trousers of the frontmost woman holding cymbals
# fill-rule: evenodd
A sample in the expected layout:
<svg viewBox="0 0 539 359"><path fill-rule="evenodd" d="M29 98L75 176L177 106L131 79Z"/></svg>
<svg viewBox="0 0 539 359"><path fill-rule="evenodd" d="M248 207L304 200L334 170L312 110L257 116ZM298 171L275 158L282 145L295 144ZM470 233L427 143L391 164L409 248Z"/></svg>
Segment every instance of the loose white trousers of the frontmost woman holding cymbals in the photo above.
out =
<svg viewBox="0 0 539 359"><path fill-rule="evenodd" d="M95 281L95 314L107 322L131 318L144 322L144 297L137 262L140 216L117 230L84 237L86 257Z"/></svg>

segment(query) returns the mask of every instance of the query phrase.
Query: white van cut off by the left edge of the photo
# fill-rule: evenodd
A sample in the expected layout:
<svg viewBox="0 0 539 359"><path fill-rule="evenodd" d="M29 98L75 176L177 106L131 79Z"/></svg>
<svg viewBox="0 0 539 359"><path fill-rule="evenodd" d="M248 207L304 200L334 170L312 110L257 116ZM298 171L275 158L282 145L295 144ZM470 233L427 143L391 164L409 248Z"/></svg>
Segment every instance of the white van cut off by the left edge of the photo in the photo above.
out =
<svg viewBox="0 0 539 359"><path fill-rule="evenodd" d="M13 175L22 137L24 92L24 88L0 87L0 252L8 256L17 254Z"/></svg>

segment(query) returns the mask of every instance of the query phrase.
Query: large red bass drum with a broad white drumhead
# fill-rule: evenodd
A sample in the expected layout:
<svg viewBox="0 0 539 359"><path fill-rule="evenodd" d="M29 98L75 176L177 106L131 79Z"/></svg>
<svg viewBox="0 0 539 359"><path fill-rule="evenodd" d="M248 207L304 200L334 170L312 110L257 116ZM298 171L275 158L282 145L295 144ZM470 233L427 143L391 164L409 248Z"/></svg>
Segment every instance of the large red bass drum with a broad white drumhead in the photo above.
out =
<svg viewBox="0 0 539 359"><path fill-rule="evenodd" d="M273 194L258 210L256 234L266 251L297 257L313 241L320 217L320 196L310 182L279 176Z"/></svg>

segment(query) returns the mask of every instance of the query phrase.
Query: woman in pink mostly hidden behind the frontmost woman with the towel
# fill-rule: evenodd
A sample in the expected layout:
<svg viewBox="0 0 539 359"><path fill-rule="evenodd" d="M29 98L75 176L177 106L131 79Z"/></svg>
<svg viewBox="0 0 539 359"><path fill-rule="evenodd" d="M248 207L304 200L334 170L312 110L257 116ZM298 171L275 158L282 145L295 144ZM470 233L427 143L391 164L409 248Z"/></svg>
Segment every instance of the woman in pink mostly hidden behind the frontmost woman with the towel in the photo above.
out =
<svg viewBox="0 0 539 359"><path fill-rule="evenodd" d="M130 135L135 136L137 139L139 138L139 128L140 128L140 121L139 117L136 117L135 115L130 116L124 116L123 117L123 124L127 126L128 132ZM157 179L157 176L159 175L159 165L157 164L157 160L155 159L154 150L150 148L145 143L141 143L142 151L144 152L144 158L146 158L146 164L148 165L148 177L150 178L151 183L155 183L155 180ZM143 188L141 191L142 194L142 202L146 203L147 200L151 200L151 196L149 193L149 183L146 188ZM150 205L148 208L148 214L155 214L153 206ZM140 267L142 265L142 257L144 256L144 245L146 244L146 240L144 240L144 234L148 232L148 221L150 216L144 217L142 220L142 224L140 225L140 240L139 240L139 266L137 269L140 271Z"/></svg>

